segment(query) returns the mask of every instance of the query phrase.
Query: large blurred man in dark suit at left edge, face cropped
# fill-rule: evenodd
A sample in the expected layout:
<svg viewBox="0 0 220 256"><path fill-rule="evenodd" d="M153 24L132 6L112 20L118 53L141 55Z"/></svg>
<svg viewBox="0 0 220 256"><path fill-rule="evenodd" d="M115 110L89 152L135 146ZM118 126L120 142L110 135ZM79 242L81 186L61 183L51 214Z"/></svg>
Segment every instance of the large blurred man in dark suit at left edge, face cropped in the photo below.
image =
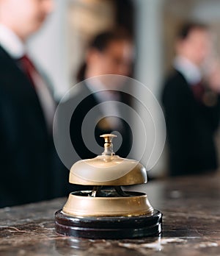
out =
<svg viewBox="0 0 220 256"><path fill-rule="evenodd" d="M60 196L54 99L25 46L53 8L52 0L0 0L0 207Z"/></svg>

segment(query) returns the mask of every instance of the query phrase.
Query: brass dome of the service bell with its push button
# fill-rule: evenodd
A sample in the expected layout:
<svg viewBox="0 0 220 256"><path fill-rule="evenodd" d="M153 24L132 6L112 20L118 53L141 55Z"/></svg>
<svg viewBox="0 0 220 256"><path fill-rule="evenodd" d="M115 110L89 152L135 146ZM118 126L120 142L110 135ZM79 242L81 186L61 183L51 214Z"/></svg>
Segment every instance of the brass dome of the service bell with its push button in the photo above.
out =
<svg viewBox="0 0 220 256"><path fill-rule="evenodd" d="M80 185L135 185L147 182L147 171L141 163L114 155L112 138L105 138L105 150L93 159L76 162L70 169L69 182Z"/></svg>

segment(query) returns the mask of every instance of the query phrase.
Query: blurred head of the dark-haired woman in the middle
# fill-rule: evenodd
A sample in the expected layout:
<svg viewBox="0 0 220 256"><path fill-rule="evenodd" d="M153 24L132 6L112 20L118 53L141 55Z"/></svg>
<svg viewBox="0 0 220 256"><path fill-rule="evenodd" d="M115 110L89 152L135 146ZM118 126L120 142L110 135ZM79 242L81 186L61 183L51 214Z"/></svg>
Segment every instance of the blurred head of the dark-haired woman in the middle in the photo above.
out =
<svg viewBox="0 0 220 256"><path fill-rule="evenodd" d="M95 63L94 57L95 60L99 57ZM106 61L99 61L100 57ZM131 35L125 30L102 32L96 35L89 43L86 60L76 75L77 81L81 82L88 78L87 72L91 69L91 65L98 64L101 64L98 66L98 70L95 71L95 74L88 74L89 77L101 74L120 74L131 77L133 70L133 40Z"/></svg>

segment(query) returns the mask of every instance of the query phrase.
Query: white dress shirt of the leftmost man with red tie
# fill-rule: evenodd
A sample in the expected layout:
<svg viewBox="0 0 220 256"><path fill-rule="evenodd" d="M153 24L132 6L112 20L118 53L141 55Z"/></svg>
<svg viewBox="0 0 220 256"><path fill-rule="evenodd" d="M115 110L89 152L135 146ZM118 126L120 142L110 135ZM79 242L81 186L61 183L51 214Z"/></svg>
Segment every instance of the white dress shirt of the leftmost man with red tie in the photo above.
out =
<svg viewBox="0 0 220 256"><path fill-rule="evenodd" d="M10 54L12 59L19 60L26 54L26 46L22 40L3 24L0 24L0 45L8 54ZM41 107L43 108L48 130L51 131L55 113L54 99L51 96L45 81L40 74L38 74L38 71L32 74L32 79L34 80L34 88L37 92L38 99L40 100Z"/></svg>

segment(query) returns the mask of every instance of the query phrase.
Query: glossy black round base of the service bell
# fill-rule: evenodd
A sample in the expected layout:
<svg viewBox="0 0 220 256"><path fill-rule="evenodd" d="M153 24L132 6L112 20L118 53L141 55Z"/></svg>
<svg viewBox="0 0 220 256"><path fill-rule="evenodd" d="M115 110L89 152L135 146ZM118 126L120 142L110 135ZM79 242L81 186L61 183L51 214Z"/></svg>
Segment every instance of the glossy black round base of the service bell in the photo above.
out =
<svg viewBox="0 0 220 256"><path fill-rule="evenodd" d="M159 235L162 230L162 213L154 210L153 215L120 217L67 216L58 210L55 213L56 232L90 239L140 238Z"/></svg>

